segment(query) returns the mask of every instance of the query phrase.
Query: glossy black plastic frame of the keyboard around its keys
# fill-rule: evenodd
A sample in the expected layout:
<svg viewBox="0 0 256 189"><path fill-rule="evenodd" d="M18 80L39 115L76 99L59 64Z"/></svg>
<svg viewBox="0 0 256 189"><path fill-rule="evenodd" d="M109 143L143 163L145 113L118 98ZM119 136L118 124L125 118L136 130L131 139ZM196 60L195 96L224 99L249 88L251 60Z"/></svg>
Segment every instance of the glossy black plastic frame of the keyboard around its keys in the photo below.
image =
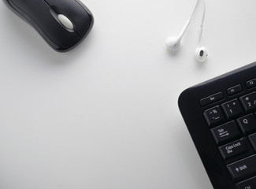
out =
<svg viewBox="0 0 256 189"><path fill-rule="evenodd" d="M246 86L247 81L255 78L256 63L254 62L233 72L228 72L223 76L218 76L213 80L190 87L180 95L178 101L180 112L184 117L191 138L215 189L235 189L236 185L226 168L225 163L227 162L224 162L221 157L221 153L217 148L203 113L206 109L210 109L213 106L218 106L255 91L255 88L248 89ZM228 88L239 84L243 87L243 91L236 95L228 95ZM201 106L201 99L219 92L224 94L223 99L207 106Z"/></svg>

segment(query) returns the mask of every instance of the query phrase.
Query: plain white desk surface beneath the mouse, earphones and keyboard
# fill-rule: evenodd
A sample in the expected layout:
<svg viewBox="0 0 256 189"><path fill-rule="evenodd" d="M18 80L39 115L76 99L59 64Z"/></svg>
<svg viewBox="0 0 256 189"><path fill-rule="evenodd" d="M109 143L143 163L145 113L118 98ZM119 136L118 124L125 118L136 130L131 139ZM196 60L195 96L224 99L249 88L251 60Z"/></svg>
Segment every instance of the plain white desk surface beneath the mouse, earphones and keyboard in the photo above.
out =
<svg viewBox="0 0 256 189"><path fill-rule="evenodd" d="M59 54L0 6L0 188L212 188L177 98L256 60L256 1L206 0L172 54L195 0L87 0L95 26Z"/></svg>

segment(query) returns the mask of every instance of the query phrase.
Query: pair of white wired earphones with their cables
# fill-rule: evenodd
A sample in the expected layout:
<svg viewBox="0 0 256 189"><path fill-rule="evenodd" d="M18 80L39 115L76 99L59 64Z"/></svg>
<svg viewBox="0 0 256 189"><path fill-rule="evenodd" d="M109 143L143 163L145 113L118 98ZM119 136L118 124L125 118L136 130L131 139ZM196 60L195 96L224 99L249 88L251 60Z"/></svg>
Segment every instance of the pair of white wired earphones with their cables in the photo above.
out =
<svg viewBox="0 0 256 189"><path fill-rule="evenodd" d="M198 2L196 3L195 9L198 7L199 2L200 2L200 0L198 0ZM200 29L198 31L198 47L195 49L195 59L199 62L206 61L207 57L208 57L208 50L206 49L206 47L200 46L201 39L202 39L203 24L204 24L204 20L206 17L206 2L205 2L205 0L202 0L202 2L203 2L203 6L204 6L203 15L202 15L202 23L201 23ZM171 37L171 38L167 39L166 46L168 46L169 50L172 50L172 51L180 50L181 40L182 40L185 32L187 31L188 26L191 23L191 19L195 14L195 9L194 9L191 17L187 20L186 24L184 25L184 28L180 32L180 35L178 35L178 37Z"/></svg>

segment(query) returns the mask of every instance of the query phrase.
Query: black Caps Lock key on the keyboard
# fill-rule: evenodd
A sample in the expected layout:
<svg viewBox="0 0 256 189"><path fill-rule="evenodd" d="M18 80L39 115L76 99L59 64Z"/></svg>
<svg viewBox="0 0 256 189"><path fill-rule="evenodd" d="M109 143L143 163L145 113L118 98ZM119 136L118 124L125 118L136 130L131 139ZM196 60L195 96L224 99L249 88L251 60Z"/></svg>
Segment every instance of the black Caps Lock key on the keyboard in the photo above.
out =
<svg viewBox="0 0 256 189"><path fill-rule="evenodd" d="M246 152L248 150L246 139L239 139L232 143L228 143L224 146L219 147L219 150L221 152L222 158L224 160L228 158L232 158L236 155L243 154L243 152Z"/></svg>

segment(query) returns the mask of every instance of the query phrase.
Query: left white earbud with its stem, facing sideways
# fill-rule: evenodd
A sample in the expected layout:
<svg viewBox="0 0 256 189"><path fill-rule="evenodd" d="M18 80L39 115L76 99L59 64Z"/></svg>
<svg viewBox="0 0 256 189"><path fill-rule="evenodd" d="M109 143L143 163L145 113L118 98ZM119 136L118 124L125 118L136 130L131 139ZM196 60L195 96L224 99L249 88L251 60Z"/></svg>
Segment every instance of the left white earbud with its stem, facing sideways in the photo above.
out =
<svg viewBox="0 0 256 189"><path fill-rule="evenodd" d="M184 28L180 32L180 35L178 37L170 37L169 39L166 40L166 46L169 48L169 50L176 51L180 50L180 43L181 39L186 32L191 20L187 20L186 24L184 25Z"/></svg>

